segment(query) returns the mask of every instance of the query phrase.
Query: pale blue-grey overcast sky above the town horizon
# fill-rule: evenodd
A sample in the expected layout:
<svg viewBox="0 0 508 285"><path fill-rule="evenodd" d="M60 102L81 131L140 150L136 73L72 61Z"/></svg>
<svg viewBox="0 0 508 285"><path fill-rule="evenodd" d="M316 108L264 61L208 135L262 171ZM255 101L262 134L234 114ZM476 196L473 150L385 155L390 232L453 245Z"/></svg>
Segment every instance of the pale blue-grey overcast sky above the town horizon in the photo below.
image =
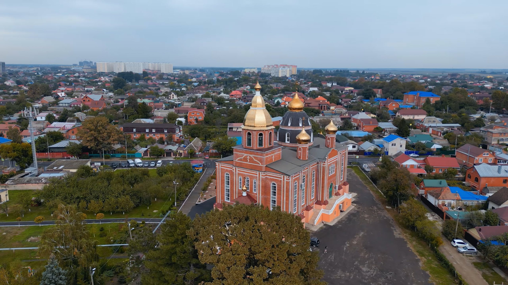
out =
<svg viewBox="0 0 508 285"><path fill-rule="evenodd" d="M508 68L508 1L0 2L0 61Z"/></svg>

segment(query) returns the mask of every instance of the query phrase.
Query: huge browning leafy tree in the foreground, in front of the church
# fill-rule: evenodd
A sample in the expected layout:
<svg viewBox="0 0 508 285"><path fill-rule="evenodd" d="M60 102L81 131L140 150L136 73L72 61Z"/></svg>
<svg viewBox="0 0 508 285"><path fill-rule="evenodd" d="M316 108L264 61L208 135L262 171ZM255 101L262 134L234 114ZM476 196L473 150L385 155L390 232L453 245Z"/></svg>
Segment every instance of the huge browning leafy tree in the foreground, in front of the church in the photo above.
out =
<svg viewBox="0 0 508 285"><path fill-rule="evenodd" d="M196 217L189 234L214 266L207 284L325 284L301 219L280 209L224 205Z"/></svg>

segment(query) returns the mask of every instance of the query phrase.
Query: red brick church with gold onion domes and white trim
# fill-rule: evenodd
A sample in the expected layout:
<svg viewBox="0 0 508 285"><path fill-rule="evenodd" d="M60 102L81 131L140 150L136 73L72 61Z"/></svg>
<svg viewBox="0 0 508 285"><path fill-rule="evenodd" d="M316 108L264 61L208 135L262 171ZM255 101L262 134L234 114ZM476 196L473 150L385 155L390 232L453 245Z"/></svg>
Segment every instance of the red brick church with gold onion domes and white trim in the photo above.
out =
<svg viewBox="0 0 508 285"><path fill-rule="evenodd" d="M214 207L261 204L294 213L303 223L332 221L351 205L347 146L336 143L337 127L330 121L324 136L314 136L296 94L277 131L259 83L255 90L243 120L242 145L216 161Z"/></svg>

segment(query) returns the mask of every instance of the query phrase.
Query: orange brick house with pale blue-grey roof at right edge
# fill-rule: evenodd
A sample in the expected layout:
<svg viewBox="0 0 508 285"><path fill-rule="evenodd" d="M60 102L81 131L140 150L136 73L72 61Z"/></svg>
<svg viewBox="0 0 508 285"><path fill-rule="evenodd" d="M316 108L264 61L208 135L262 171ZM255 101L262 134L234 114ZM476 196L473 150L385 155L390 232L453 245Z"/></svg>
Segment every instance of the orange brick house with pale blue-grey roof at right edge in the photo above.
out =
<svg viewBox="0 0 508 285"><path fill-rule="evenodd" d="M508 165L488 165L486 163L474 165L466 170L465 182L481 192L487 186L506 187L508 186Z"/></svg>

